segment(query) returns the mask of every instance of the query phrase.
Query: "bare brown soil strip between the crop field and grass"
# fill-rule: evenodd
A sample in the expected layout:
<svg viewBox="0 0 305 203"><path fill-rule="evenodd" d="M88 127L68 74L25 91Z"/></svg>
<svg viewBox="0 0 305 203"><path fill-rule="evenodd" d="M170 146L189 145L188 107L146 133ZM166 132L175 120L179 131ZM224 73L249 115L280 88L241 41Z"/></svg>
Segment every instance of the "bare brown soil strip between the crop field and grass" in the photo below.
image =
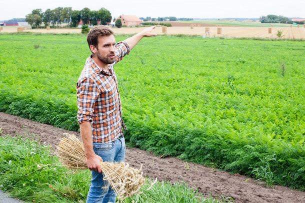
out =
<svg viewBox="0 0 305 203"><path fill-rule="evenodd" d="M40 142L56 145L62 133L76 132L55 128L33 122L28 119L8 115L0 112L0 128L2 134L11 136L38 135ZM234 176L213 168L206 168L199 164L186 163L176 158L160 159L151 153L127 148L126 162L132 167L143 164L144 175L158 180L171 182L184 181L195 187L203 194L213 197L232 197L237 203L305 203L305 192L293 191L286 187L276 186L266 188L263 183L245 176Z"/></svg>

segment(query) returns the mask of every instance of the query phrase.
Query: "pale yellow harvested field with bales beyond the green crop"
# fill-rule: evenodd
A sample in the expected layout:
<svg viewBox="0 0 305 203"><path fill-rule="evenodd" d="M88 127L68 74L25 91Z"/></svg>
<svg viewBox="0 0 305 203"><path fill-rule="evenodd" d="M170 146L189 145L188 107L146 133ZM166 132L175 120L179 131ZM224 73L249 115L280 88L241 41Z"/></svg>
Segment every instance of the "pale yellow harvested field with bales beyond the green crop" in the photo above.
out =
<svg viewBox="0 0 305 203"><path fill-rule="evenodd" d="M143 27L122 27L113 28L116 34L132 34L142 30ZM268 33L268 27L221 27L221 34L217 34L217 27L209 27L210 37L259 37L259 38L278 38L277 30L283 30L285 39L305 39L305 27L271 27L272 33ZM80 33L80 28L58 28L58 29L25 29L29 32L42 33ZM3 27L0 32L16 32L17 27ZM158 26L154 32L162 34L162 27ZM167 27L167 34L189 34L189 35L205 35L205 27Z"/></svg>

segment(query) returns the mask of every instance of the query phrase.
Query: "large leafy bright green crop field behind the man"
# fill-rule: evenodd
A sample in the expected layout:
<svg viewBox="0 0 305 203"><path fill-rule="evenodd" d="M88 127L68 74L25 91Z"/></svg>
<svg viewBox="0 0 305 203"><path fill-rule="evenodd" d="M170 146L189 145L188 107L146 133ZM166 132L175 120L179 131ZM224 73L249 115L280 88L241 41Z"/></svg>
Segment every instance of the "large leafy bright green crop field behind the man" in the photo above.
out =
<svg viewBox="0 0 305 203"><path fill-rule="evenodd" d="M0 34L0 49L0 111L78 130L85 35ZM143 39L115 66L126 140L304 191L304 50L302 41Z"/></svg>

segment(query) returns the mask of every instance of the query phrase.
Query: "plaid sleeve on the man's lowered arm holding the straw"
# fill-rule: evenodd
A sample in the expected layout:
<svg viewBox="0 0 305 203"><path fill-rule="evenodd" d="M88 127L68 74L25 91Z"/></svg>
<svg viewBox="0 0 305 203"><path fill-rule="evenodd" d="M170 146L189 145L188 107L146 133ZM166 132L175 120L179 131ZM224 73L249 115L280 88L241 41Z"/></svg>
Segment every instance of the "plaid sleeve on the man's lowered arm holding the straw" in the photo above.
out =
<svg viewBox="0 0 305 203"><path fill-rule="evenodd" d="M77 121L92 122L92 113L94 112L94 104L100 91L95 81L91 78L83 78L76 84L77 90Z"/></svg>

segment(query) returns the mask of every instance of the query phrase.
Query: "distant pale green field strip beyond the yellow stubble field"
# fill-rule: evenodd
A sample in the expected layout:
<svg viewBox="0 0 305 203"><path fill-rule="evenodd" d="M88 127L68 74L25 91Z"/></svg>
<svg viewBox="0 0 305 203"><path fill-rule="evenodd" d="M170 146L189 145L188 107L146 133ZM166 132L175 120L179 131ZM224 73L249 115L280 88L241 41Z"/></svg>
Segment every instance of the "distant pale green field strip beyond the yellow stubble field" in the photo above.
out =
<svg viewBox="0 0 305 203"><path fill-rule="evenodd" d="M289 27L290 24L285 23L261 23L259 21L250 20L191 20L191 21L179 21L186 23L206 23L206 24L216 24L223 26L238 26L238 27ZM292 24L293 27L297 27L296 24ZM300 26L303 26L302 24Z"/></svg>

